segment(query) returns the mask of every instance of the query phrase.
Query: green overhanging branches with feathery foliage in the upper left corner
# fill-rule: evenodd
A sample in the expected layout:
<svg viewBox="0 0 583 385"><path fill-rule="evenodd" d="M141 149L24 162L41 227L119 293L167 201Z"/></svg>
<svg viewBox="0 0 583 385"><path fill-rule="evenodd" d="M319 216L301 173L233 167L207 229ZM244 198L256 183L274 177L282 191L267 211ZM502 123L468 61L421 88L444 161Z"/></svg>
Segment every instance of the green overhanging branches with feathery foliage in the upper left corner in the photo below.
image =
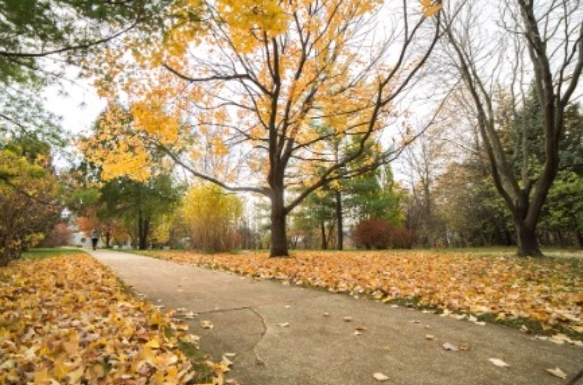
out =
<svg viewBox="0 0 583 385"><path fill-rule="evenodd" d="M40 90L94 47L148 19L158 1L6 0L0 3L0 133L61 143ZM155 24L154 24L155 25ZM142 27L145 27L143 25Z"/></svg>

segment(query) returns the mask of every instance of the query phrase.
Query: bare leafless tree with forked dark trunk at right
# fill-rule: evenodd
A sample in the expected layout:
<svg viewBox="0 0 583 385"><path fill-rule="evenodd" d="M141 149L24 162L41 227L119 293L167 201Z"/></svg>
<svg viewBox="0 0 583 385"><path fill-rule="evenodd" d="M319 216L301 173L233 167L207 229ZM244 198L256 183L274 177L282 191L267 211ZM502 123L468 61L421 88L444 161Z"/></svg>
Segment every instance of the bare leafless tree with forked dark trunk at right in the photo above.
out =
<svg viewBox="0 0 583 385"><path fill-rule="evenodd" d="M490 7L490 5L489 5ZM583 70L583 15L578 1L503 1L499 29L487 31L479 22L486 10L473 1L451 5L444 16L447 52L469 93L486 148L494 185L512 212L518 254L542 255L536 226L549 189L559 170L559 146L564 132L565 110L577 89ZM491 9L491 8L490 8ZM481 13L480 13L481 12ZM484 33L496 34L489 44ZM490 62L487 62L490 60ZM515 173L504 153L496 119L496 89L501 76L510 74L507 89L512 106L525 101L518 90L532 65L532 82L542 106L543 164L536 174L528 173L528 153L523 148L524 167Z"/></svg>

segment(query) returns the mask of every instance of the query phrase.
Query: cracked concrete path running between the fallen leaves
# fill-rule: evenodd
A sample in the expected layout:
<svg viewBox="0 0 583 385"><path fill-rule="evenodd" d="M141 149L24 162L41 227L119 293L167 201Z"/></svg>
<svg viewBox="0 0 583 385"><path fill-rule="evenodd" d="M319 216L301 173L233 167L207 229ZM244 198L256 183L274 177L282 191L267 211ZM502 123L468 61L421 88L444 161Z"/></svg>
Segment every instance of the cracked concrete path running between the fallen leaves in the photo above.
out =
<svg viewBox="0 0 583 385"><path fill-rule="evenodd" d="M189 325L201 336L202 351L217 361L225 352L236 353L229 377L243 385L372 385L376 372L389 377L385 384L559 385L566 381L545 369L559 366L570 376L583 369L583 348L533 340L502 325L480 326L139 255L90 253L154 304L197 313ZM215 328L201 328L201 320ZM367 330L354 335L358 325ZM445 342L469 349L445 351ZM510 368L498 368L489 358Z"/></svg>

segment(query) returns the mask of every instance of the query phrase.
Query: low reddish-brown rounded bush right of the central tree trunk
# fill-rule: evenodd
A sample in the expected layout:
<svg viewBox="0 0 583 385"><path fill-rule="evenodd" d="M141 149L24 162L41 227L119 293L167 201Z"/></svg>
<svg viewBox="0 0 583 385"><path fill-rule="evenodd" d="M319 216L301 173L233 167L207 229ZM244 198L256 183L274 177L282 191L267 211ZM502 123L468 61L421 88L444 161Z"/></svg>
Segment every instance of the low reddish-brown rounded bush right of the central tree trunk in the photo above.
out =
<svg viewBox="0 0 583 385"><path fill-rule="evenodd" d="M356 247L371 248L411 248L413 234L403 227L396 227L387 220L361 220L353 230Z"/></svg>

